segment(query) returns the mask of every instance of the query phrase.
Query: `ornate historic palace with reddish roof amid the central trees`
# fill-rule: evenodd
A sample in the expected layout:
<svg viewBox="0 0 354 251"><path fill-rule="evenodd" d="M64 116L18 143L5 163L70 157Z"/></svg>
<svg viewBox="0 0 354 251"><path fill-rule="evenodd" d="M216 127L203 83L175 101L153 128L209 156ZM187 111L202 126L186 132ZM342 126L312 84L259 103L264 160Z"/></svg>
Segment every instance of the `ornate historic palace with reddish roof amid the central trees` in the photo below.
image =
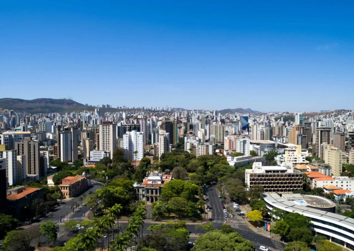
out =
<svg viewBox="0 0 354 251"><path fill-rule="evenodd" d="M139 200L153 203L158 200L161 189L171 180L171 175L153 173L146 177L142 184L135 186L135 192Z"/></svg>

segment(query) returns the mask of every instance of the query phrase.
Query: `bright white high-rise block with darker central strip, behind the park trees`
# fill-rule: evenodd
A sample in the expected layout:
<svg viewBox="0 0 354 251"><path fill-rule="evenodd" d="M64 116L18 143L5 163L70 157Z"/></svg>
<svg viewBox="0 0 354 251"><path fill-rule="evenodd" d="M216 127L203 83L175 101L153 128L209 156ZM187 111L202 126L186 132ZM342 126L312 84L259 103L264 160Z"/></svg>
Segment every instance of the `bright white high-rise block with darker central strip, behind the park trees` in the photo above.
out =
<svg viewBox="0 0 354 251"><path fill-rule="evenodd" d="M130 160L144 158L144 133L135 130L123 135L123 149Z"/></svg>

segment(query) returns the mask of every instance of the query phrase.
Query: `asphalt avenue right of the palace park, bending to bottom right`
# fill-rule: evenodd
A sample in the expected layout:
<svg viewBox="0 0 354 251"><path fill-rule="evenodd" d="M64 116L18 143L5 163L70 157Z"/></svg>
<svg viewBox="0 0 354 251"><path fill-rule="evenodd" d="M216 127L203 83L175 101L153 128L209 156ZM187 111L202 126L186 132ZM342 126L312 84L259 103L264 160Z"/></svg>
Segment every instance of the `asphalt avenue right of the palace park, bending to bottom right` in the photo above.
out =
<svg viewBox="0 0 354 251"><path fill-rule="evenodd" d="M223 224L231 223L232 227L237 233L242 235L242 237L246 240L249 240L256 245L256 250L259 250L260 246L266 246L267 248L271 248L273 250L278 251L284 250L284 245L282 243L277 242L271 238L267 238L263 235L257 234L253 230L251 230L245 224L245 219L242 219L237 215L234 217L234 219L225 218L224 211L219 199L219 194L215 185L209 187L207 195L209 198L209 206L211 208L211 221L214 228L220 229Z"/></svg>

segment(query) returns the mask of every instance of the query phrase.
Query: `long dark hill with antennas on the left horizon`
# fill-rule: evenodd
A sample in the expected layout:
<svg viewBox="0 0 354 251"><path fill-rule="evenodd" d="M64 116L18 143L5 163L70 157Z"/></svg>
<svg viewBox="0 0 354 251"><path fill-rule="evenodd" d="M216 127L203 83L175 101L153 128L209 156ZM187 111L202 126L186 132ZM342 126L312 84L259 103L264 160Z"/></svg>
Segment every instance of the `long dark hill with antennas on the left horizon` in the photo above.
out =
<svg viewBox="0 0 354 251"><path fill-rule="evenodd" d="M71 109L84 108L83 104L70 99L39 98L33 100L2 98L0 108L18 112L40 113L40 112L63 112Z"/></svg>

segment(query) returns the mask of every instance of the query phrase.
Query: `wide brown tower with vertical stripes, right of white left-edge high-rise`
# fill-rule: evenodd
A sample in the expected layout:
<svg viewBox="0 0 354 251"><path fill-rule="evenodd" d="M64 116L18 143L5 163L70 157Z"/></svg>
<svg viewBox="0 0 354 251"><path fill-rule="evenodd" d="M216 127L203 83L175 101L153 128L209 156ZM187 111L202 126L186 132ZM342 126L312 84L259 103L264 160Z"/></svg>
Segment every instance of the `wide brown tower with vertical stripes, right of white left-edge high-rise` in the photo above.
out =
<svg viewBox="0 0 354 251"><path fill-rule="evenodd" d="M16 142L15 149L18 155L26 156L26 175L37 174L39 177L44 175L40 170L40 152L39 143L37 141L30 140L29 137L26 137L24 140Z"/></svg>

